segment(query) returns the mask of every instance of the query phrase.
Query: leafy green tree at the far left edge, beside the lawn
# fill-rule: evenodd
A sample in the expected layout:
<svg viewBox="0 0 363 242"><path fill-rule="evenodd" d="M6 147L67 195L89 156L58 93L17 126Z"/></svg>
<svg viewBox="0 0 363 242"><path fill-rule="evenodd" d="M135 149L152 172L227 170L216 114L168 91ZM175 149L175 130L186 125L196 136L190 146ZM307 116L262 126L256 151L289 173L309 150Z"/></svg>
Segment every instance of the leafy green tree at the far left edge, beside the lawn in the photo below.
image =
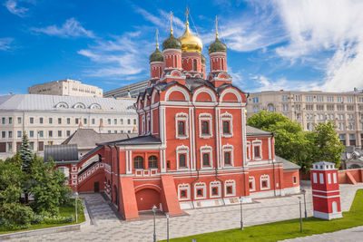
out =
<svg viewBox="0 0 363 242"><path fill-rule="evenodd" d="M33 210L20 204L24 174L14 160L0 162L0 220L6 227L28 227Z"/></svg>

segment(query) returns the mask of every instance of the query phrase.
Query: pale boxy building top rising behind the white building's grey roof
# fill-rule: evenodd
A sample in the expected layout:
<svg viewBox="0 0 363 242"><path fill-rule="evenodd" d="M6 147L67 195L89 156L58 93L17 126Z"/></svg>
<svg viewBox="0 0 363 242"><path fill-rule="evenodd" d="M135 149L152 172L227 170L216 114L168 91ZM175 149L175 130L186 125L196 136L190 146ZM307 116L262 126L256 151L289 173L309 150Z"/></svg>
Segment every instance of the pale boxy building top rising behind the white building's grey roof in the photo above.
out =
<svg viewBox="0 0 363 242"><path fill-rule="evenodd" d="M34 85L28 88L28 93L75 97L103 97L103 89L71 79Z"/></svg>

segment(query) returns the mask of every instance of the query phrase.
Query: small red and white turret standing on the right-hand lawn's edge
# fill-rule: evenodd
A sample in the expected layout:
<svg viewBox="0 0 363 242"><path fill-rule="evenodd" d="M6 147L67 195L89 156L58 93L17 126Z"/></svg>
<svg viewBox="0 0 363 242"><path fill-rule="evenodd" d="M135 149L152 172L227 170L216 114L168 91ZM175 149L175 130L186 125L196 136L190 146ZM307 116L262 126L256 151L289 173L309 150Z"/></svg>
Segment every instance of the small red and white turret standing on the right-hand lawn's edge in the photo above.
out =
<svg viewBox="0 0 363 242"><path fill-rule="evenodd" d="M328 220L342 218L338 169L335 169L335 164L326 161L313 163L310 173L314 217Z"/></svg>

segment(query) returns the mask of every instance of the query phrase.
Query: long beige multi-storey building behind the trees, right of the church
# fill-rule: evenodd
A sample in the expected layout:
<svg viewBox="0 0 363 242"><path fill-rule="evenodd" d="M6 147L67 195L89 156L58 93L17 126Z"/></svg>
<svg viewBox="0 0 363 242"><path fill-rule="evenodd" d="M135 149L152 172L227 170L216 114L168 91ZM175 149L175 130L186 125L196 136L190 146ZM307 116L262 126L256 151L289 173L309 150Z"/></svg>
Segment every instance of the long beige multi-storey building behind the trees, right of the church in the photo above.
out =
<svg viewBox="0 0 363 242"><path fill-rule="evenodd" d="M332 121L345 145L363 146L363 92L294 92L251 93L248 117L260 110L277 111L297 121L305 131L319 122Z"/></svg>

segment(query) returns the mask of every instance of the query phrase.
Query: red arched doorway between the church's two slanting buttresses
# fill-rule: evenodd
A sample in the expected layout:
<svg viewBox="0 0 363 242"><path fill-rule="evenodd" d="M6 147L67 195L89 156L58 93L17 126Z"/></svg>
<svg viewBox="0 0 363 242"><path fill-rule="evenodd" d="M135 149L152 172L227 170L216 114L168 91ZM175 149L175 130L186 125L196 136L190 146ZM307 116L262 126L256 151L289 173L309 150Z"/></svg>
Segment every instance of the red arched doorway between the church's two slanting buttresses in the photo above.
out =
<svg viewBox="0 0 363 242"><path fill-rule="evenodd" d="M155 205L160 207L160 193L155 189L141 189L136 192L137 208L139 211L151 210Z"/></svg>

